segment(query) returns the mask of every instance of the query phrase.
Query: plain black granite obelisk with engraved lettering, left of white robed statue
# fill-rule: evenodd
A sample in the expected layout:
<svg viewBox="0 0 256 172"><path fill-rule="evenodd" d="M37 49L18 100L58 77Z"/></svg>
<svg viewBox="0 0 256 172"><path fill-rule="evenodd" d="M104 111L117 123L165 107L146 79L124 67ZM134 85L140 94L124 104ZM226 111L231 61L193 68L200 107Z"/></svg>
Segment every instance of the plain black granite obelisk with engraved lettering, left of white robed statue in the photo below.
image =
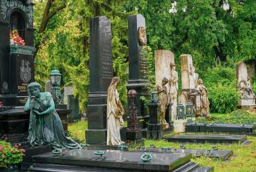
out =
<svg viewBox="0 0 256 172"><path fill-rule="evenodd" d="M107 88L113 78L111 24L107 17L90 21L90 90L86 142L105 144L107 141Z"/></svg>

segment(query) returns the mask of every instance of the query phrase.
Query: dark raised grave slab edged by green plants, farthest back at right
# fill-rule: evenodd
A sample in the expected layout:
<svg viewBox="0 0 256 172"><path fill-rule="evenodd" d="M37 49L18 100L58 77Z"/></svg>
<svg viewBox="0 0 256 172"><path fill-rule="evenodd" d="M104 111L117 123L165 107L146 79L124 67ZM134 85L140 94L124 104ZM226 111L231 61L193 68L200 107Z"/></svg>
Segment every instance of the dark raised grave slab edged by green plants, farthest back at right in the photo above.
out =
<svg viewBox="0 0 256 172"><path fill-rule="evenodd" d="M187 132L253 133L255 125L188 123Z"/></svg>

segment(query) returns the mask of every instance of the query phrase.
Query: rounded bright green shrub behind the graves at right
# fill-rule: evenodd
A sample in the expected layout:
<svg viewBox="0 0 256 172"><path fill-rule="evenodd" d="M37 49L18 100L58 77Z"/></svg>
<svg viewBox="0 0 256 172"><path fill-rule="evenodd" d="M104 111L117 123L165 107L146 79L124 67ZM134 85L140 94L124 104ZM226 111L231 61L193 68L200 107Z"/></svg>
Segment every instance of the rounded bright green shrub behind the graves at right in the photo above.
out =
<svg viewBox="0 0 256 172"><path fill-rule="evenodd" d="M239 93L232 85L212 85L209 88L210 110L217 113L230 113L237 109Z"/></svg>

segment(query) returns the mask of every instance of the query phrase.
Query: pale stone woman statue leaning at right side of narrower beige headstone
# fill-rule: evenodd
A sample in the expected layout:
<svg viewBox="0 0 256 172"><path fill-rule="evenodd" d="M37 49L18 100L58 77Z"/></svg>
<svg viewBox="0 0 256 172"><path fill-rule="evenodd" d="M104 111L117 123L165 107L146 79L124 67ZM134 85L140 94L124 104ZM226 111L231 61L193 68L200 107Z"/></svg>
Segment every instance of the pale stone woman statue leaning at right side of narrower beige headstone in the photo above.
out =
<svg viewBox="0 0 256 172"><path fill-rule="evenodd" d="M197 91L201 99L201 114L210 117L210 102L208 100L208 89L203 85L203 80L199 79Z"/></svg>

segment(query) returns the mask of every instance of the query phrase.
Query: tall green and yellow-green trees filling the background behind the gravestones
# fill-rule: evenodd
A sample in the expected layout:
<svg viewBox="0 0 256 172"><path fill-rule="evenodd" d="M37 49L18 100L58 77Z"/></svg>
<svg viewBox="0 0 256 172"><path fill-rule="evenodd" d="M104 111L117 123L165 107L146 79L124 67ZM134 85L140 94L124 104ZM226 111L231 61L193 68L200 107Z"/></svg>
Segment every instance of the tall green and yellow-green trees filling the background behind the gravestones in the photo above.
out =
<svg viewBox="0 0 256 172"><path fill-rule="evenodd" d="M91 17L104 15L111 20L113 69L114 75L119 76L122 81L118 91L123 103L126 103L127 99L125 84L128 80L127 16L129 14L140 13L146 19L149 78L152 83L154 50L172 50L176 56L178 72L179 56L192 54L196 72L205 80L210 94L215 93L215 90L214 92L211 90L218 83L221 85L232 83L229 87L235 88L235 80L233 80L235 64L238 61L254 59L256 56L254 0L44 0L34 3L37 29L35 32L36 80L44 85L51 69L54 67L60 69L63 74L62 86L76 87L75 94L80 98L82 111L86 107L89 92L89 19ZM211 69L215 66L221 71L213 70L211 73ZM205 69L208 70L209 75L205 74ZM214 74L214 80L211 80L210 74ZM235 92L229 95L232 95L230 99L234 101ZM218 96L213 95L212 98L214 97ZM211 101L215 106L214 111L222 108L214 104L213 99ZM226 101L228 101L227 97ZM228 106L225 105L223 108ZM228 111L232 109L233 107L228 107Z"/></svg>

